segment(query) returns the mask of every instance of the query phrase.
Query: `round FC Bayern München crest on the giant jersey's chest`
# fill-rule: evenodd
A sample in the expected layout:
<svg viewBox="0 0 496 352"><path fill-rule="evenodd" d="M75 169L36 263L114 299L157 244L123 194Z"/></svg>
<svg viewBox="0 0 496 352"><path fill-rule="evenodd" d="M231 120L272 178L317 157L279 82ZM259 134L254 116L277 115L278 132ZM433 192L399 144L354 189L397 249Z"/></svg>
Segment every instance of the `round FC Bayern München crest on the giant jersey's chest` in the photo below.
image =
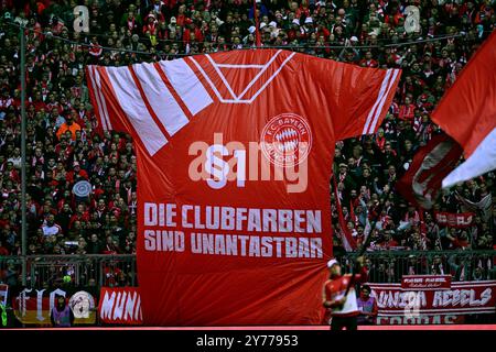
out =
<svg viewBox="0 0 496 352"><path fill-rule="evenodd" d="M312 131L302 117L281 113L266 124L260 142L263 155L272 164L292 167L309 156L312 148Z"/></svg>

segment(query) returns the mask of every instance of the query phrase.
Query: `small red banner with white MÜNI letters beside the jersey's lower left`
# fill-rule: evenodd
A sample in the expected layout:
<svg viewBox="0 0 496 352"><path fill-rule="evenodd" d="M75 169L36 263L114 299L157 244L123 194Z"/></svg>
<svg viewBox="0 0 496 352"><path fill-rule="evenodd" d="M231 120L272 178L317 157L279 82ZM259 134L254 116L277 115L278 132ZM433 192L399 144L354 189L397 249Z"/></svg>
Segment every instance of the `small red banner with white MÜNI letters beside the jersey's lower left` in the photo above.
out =
<svg viewBox="0 0 496 352"><path fill-rule="evenodd" d="M142 324L138 287L101 287L98 317L106 323Z"/></svg>

